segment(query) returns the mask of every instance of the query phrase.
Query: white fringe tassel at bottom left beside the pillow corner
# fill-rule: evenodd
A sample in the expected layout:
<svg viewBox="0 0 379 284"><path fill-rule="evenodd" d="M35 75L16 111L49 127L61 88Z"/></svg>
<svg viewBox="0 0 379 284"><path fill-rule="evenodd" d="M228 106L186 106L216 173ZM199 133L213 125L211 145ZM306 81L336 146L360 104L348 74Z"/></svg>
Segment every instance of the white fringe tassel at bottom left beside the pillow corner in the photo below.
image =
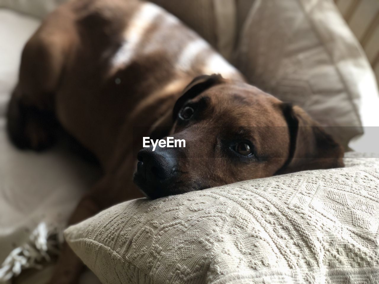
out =
<svg viewBox="0 0 379 284"><path fill-rule="evenodd" d="M39 223L31 233L29 241L15 248L0 268L0 283L19 275L27 268L42 269L42 263L50 262L51 257L59 254L63 243L63 230L48 229Z"/></svg>

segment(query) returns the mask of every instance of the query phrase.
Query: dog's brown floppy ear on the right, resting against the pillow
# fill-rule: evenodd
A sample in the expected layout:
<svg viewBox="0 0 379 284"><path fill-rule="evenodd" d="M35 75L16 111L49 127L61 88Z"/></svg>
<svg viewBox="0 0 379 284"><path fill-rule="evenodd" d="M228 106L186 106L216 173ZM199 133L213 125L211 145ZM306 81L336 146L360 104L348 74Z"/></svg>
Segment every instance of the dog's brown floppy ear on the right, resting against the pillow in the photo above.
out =
<svg viewBox="0 0 379 284"><path fill-rule="evenodd" d="M298 106L282 105L290 132L290 155L276 173L343 167L343 148Z"/></svg>

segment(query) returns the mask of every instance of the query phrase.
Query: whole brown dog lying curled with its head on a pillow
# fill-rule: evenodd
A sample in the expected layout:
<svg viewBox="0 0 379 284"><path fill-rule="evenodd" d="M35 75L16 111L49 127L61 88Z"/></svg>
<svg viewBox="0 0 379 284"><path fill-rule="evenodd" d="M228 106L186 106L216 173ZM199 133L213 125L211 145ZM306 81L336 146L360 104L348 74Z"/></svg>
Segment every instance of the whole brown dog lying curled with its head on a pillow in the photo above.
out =
<svg viewBox="0 0 379 284"><path fill-rule="evenodd" d="M212 73L222 76L202 75ZM9 135L41 150L54 141L55 121L104 171L70 224L142 197L137 158L134 181L152 198L343 166L341 147L304 111L244 83L179 20L137 0L68 2L28 41ZM143 137L167 135L186 147L138 153ZM81 267L65 246L51 283L77 282Z"/></svg>

